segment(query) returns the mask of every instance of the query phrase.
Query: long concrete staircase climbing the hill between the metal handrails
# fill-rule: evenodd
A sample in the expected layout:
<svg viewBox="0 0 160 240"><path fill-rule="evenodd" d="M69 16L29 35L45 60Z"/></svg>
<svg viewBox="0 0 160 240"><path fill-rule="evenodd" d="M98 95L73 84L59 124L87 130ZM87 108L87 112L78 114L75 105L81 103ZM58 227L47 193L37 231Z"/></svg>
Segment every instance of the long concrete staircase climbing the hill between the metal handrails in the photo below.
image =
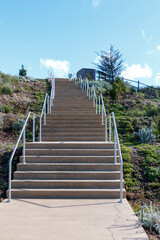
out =
<svg viewBox="0 0 160 240"><path fill-rule="evenodd" d="M26 143L26 164L21 157L12 198L120 198L118 150L114 164L114 143L104 142L104 132L86 92L56 79L42 142Z"/></svg>

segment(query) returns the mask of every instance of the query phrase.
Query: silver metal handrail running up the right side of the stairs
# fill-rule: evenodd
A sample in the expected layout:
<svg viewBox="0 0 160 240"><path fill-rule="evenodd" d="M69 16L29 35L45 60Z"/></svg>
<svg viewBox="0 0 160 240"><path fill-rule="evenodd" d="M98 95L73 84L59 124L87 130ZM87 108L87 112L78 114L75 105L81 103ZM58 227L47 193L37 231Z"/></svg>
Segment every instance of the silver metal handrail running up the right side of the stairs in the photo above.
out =
<svg viewBox="0 0 160 240"><path fill-rule="evenodd" d="M96 114L101 114L102 125L105 124L105 142L112 142L114 140L114 164L117 164L117 148L120 158L120 202L123 200L123 159L121 154L121 147L119 143L118 131L114 112L106 114L106 109L103 101L102 93L97 95L95 87L89 86L88 80L74 79L75 85L80 85L80 89L87 92L89 100L93 100L93 107L96 108ZM112 127L113 125L113 127Z"/></svg>

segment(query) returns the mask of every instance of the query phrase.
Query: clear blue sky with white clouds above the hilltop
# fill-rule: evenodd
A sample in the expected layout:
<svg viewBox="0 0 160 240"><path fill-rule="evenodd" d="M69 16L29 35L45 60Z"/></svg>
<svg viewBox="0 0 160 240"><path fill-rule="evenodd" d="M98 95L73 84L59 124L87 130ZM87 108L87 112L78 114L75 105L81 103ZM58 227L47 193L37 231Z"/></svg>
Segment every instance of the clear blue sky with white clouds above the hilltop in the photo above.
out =
<svg viewBox="0 0 160 240"><path fill-rule="evenodd" d="M0 3L0 71L67 77L93 68L95 52L119 49L123 75L160 86L159 0L5 0Z"/></svg>

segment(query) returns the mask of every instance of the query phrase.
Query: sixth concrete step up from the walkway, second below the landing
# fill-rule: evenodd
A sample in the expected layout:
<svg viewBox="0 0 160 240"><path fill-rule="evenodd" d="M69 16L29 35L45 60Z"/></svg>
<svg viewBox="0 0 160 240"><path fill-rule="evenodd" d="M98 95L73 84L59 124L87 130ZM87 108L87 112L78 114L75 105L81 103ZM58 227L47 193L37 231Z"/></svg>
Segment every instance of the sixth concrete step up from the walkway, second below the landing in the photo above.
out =
<svg viewBox="0 0 160 240"><path fill-rule="evenodd" d="M117 150L118 154L118 150ZM114 156L114 149L26 149L26 155Z"/></svg>

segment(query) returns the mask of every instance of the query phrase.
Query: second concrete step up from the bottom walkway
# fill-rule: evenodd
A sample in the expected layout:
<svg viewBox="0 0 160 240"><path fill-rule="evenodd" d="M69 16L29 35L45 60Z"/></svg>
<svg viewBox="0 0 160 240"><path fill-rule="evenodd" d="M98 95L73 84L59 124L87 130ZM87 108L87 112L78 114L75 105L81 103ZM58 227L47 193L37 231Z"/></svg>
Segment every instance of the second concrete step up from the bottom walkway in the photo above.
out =
<svg viewBox="0 0 160 240"><path fill-rule="evenodd" d="M124 182L123 182L124 185ZM100 188L119 188L120 180L46 180L46 179L25 179L25 180L13 180L12 188L88 188L88 189L100 189Z"/></svg>

